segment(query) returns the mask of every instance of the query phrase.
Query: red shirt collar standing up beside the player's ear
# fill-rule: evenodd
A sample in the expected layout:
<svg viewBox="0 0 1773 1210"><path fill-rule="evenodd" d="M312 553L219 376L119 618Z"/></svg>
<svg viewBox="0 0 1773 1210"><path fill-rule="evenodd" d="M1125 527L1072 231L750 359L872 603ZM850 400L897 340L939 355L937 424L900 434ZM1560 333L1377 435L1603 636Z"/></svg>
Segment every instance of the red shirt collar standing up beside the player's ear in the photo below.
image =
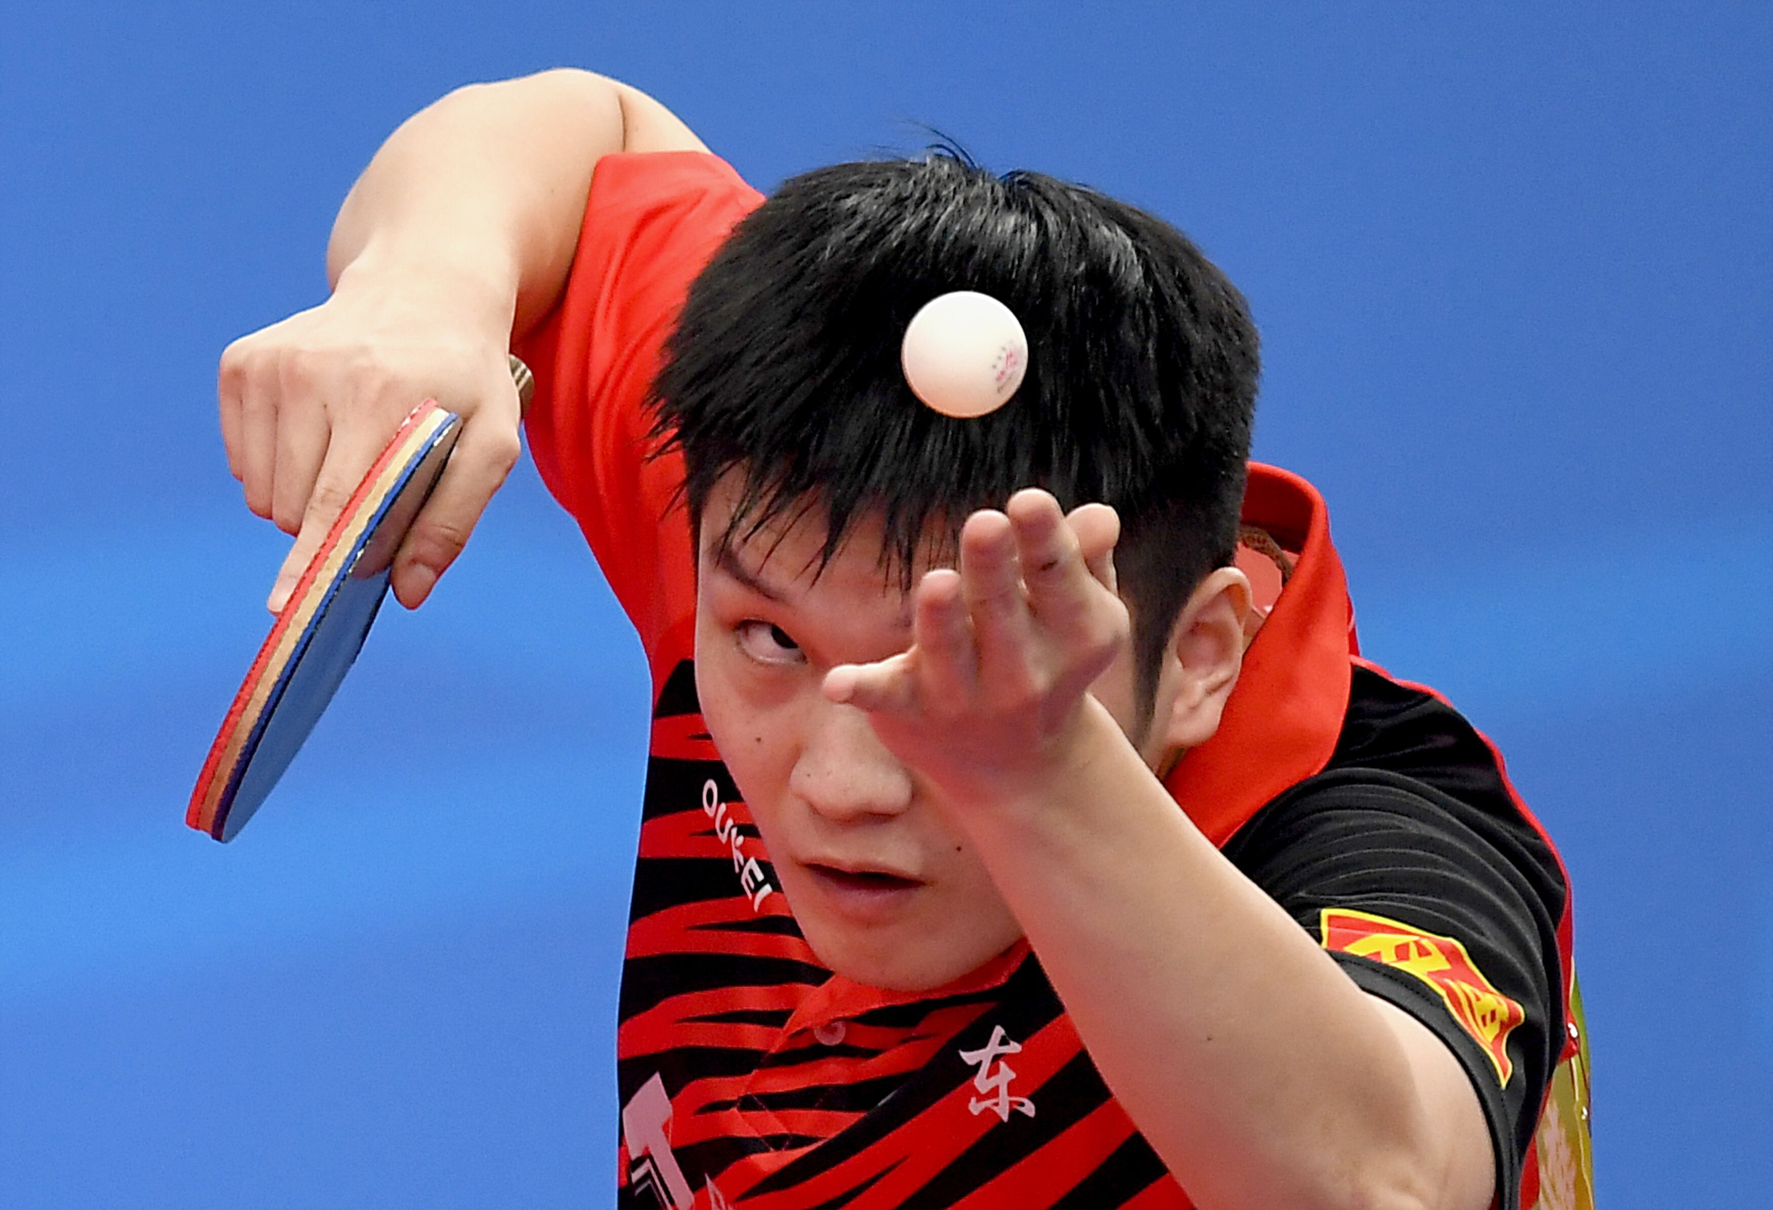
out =
<svg viewBox="0 0 1773 1210"><path fill-rule="evenodd" d="M1243 654L1218 732L1188 751L1163 783L1215 845L1330 764L1347 712L1349 654L1356 650L1347 581L1317 489L1291 471L1250 462L1243 521L1298 551L1298 562Z"/></svg>

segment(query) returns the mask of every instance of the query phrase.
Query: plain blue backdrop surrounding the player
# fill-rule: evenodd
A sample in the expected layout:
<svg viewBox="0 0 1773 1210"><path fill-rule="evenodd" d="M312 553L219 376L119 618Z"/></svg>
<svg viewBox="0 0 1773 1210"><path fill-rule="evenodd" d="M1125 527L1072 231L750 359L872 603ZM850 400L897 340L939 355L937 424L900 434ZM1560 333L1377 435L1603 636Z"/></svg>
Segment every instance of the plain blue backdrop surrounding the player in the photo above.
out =
<svg viewBox="0 0 1773 1210"><path fill-rule="evenodd" d="M183 827L284 549L216 356L395 122L557 64L766 188L927 122L1190 230L1367 652L1562 843L1605 1205L1766 1205L1773 11L1514 9L0 9L0 1205L610 1203L645 682L532 469L254 827Z"/></svg>

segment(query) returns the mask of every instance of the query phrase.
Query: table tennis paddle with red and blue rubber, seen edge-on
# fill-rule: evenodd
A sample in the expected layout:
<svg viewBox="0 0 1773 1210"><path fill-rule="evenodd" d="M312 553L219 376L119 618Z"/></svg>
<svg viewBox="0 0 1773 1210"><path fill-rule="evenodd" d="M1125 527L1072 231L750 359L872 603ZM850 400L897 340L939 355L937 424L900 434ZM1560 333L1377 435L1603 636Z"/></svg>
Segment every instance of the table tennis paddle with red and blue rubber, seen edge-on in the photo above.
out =
<svg viewBox="0 0 1773 1210"><path fill-rule="evenodd" d="M514 356L511 376L528 406L534 379ZM232 840L264 804L363 648L401 539L459 434L461 416L426 400L363 475L234 694L197 776L186 824Z"/></svg>

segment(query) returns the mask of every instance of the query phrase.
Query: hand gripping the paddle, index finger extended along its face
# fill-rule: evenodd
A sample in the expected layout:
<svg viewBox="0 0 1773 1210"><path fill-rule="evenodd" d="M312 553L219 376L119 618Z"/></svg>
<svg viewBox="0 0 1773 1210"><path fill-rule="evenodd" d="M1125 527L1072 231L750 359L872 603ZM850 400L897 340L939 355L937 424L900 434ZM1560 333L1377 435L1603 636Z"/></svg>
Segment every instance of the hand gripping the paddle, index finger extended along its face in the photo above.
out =
<svg viewBox="0 0 1773 1210"><path fill-rule="evenodd" d="M422 602L519 452L507 367L511 310L465 303L459 282L340 280L333 296L222 354L229 469L246 507L296 537L275 613L406 413L436 399L463 416L449 468L394 560L394 595Z"/></svg>

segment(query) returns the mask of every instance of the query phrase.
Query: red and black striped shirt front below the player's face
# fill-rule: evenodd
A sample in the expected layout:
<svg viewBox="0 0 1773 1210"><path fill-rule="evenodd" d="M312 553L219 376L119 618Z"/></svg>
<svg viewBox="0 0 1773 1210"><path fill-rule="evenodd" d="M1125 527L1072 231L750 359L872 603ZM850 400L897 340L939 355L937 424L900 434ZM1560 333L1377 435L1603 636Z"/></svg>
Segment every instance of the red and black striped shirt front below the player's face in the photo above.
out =
<svg viewBox="0 0 1773 1210"><path fill-rule="evenodd" d="M819 966L688 661L654 710L640 852L619 1205L1188 1205L1025 948L917 996Z"/></svg>

